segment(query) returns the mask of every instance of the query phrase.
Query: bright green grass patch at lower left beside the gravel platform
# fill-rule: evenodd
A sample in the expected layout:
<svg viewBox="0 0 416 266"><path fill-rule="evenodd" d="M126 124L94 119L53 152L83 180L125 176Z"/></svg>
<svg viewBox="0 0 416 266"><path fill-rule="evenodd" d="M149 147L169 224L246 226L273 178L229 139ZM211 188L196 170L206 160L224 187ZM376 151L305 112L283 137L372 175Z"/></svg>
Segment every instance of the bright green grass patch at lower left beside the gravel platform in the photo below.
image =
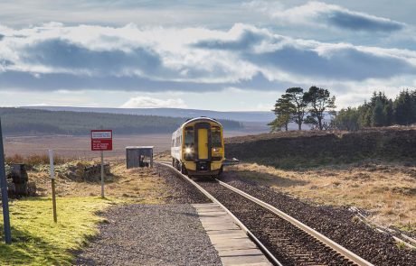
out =
<svg viewBox="0 0 416 266"><path fill-rule="evenodd" d="M58 223L52 199L33 197L10 202L12 244L5 244L0 217L0 265L71 265L74 252L98 233L99 210L114 204L99 197L57 198Z"/></svg>

